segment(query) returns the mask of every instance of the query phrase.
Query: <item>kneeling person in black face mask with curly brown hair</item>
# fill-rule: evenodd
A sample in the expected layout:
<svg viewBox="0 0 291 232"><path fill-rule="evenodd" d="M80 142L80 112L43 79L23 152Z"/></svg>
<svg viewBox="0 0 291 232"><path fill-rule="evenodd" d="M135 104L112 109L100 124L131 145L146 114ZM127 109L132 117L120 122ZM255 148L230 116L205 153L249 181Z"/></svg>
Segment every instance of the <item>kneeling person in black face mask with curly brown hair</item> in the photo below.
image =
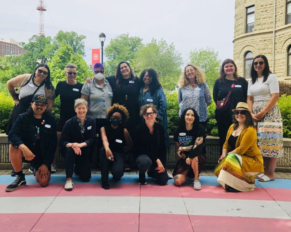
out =
<svg viewBox="0 0 291 232"><path fill-rule="evenodd" d="M109 189L109 169L113 181L119 181L123 176L124 152L132 148L132 141L124 128L128 119L128 111L124 106L113 104L108 109L106 117L110 125L101 127L101 136L98 139L99 143L103 144L100 150L101 184L102 188Z"/></svg>

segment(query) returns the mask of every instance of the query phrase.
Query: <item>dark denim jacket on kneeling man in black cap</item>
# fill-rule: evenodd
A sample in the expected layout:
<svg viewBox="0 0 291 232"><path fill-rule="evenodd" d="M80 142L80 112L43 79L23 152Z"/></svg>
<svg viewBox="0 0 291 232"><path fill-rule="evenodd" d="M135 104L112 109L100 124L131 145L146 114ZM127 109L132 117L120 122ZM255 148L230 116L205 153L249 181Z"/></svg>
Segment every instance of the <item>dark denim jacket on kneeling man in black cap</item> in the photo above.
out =
<svg viewBox="0 0 291 232"><path fill-rule="evenodd" d="M58 142L56 136L56 118L52 115L43 114L42 120L45 121L39 128L42 164L51 166ZM33 115L27 113L20 114L8 134L8 142L16 148L24 144L29 150L32 150L36 145L36 134L37 124Z"/></svg>

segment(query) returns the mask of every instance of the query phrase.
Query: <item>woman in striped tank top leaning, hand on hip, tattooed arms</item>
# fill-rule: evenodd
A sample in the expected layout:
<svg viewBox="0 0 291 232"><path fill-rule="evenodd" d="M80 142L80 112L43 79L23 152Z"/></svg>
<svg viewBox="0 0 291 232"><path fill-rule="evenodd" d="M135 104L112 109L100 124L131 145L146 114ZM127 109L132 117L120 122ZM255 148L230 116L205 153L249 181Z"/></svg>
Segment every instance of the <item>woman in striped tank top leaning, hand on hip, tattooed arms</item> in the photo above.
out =
<svg viewBox="0 0 291 232"><path fill-rule="evenodd" d="M15 88L19 88L19 94L15 92ZM39 64L33 74L18 75L7 82L7 89L13 99L14 107L9 119L8 135L16 118L19 114L23 114L30 106L33 96L43 94L47 97L47 110L51 113L54 105L55 91L51 82L51 74L46 64ZM34 166L31 162L30 172L34 172ZM16 173L11 172L12 176Z"/></svg>

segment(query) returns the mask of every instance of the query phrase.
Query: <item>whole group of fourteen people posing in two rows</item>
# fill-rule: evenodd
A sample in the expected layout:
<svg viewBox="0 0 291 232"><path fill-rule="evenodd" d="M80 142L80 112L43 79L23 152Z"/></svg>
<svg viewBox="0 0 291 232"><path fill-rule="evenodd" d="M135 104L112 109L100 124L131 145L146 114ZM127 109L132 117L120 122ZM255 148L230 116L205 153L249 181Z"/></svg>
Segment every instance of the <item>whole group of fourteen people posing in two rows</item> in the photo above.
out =
<svg viewBox="0 0 291 232"><path fill-rule="evenodd" d="M124 61L107 78L101 63L93 70L94 78L83 85L76 81L77 67L68 64L67 80L58 82L55 90L46 64L38 65L33 74L7 82L15 103L7 134L17 177L7 191L26 184L24 161L30 162L40 185L46 186L51 172L57 170L59 152L65 158L65 189L72 190L73 174L82 181L91 178L94 147L104 189L110 188L109 170L113 180L119 181L132 163L138 167L139 184L147 183L146 173L160 185L167 183L167 101L157 72L145 69L138 78ZM248 84L237 75L233 60L227 59L213 88L221 150L215 174L223 188L232 192L253 190L255 177L274 180L276 161L283 155L278 81L264 55L254 58L251 74ZM179 159L173 177L177 186L193 178L194 189L200 190L199 173L206 162L207 106L212 98L198 66L187 65L179 84L180 121L174 132ZM58 122L51 116L57 96L61 101Z"/></svg>

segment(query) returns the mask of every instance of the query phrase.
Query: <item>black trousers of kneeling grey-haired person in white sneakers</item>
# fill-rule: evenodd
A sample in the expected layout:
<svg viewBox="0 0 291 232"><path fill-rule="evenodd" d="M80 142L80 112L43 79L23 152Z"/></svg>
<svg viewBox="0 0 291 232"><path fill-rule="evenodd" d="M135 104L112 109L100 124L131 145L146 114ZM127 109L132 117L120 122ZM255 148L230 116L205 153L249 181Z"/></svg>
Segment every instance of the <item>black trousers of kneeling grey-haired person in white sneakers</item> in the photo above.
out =
<svg viewBox="0 0 291 232"><path fill-rule="evenodd" d="M75 171L82 181L91 179L89 151L89 147L84 147L81 148L81 155L77 155L72 148L66 149L66 178L72 178Z"/></svg>

